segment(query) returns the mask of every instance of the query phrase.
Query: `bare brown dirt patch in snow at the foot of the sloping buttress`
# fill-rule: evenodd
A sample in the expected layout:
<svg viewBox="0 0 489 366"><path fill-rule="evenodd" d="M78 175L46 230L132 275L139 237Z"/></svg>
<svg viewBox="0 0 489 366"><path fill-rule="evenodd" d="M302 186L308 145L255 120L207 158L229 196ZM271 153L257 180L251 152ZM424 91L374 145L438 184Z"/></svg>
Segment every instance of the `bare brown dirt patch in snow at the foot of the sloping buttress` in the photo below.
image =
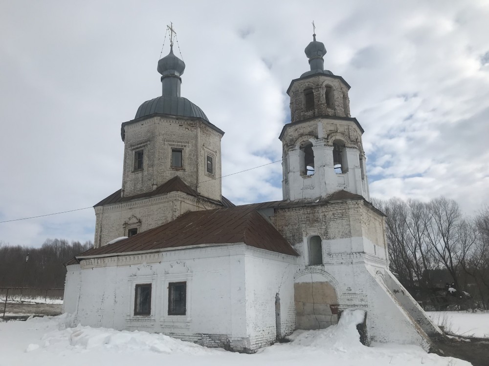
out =
<svg viewBox="0 0 489 366"><path fill-rule="evenodd" d="M473 366L487 366L489 360L489 340L487 338L440 337L433 340L440 356L451 356L472 363Z"/></svg>

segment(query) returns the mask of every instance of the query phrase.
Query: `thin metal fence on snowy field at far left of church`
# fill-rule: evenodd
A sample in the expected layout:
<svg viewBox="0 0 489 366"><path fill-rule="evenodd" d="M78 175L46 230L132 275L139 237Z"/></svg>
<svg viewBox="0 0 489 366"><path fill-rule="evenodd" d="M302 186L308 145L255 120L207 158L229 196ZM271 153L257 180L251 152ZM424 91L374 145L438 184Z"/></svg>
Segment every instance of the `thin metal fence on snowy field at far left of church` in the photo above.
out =
<svg viewBox="0 0 489 366"><path fill-rule="evenodd" d="M3 319L8 303L62 304L64 288L0 287L0 303L3 302Z"/></svg>

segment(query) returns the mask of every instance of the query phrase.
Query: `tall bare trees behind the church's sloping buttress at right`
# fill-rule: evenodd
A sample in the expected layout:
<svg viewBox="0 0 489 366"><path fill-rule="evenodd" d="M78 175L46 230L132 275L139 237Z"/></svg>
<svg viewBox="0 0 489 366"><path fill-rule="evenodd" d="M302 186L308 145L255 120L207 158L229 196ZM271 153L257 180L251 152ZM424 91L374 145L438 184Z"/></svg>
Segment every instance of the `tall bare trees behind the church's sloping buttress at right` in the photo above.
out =
<svg viewBox="0 0 489 366"><path fill-rule="evenodd" d="M415 298L446 305L445 289L489 309L489 207L470 217L445 197L373 203L387 216L390 270Z"/></svg>

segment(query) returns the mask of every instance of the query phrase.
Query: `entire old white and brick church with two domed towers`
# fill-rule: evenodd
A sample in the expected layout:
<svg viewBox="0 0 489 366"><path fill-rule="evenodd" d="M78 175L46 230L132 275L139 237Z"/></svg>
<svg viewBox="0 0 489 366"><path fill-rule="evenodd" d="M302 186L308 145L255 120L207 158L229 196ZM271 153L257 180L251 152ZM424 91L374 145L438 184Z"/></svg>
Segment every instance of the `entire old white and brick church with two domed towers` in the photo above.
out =
<svg viewBox="0 0 489 366"><path fill-rule="evenodd" d="M441 331L388 269L364 131L350 85L324 69L324 44L313 35L310 70L287 90L283 200L236 206L222 196L224 132L180 95L185 63L170 36L162 95L121 125L122 187L94 206L93 248L66 264L64 311L75 324L251 353L362 309L365 344L429 349Z"/></svg>

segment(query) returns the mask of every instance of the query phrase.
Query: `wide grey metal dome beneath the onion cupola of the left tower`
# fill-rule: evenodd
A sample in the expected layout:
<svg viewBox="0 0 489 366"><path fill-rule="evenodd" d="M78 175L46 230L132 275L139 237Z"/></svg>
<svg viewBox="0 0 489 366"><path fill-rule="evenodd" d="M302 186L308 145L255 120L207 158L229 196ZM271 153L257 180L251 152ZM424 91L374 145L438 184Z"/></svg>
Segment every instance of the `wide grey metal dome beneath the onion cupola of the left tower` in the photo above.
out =
<svg viewBox="0 0 489 366"><path fill-rule="evenodd" d="M152 115L154 113L170 114L172 116L197 117L209 122L202 110L187 98L161 96L142 103L137 108L134 119Z"/></svg>

